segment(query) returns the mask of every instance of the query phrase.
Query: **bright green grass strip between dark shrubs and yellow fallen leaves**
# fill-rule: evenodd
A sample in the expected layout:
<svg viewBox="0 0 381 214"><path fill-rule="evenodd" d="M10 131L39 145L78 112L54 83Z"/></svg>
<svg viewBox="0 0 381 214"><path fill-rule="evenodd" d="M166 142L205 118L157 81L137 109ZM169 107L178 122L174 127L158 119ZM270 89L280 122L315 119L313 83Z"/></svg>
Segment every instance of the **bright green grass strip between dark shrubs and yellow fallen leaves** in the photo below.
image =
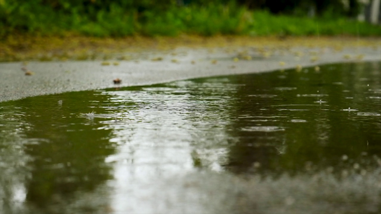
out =
<svg viewBox="0 0 381 214"><path fill-rule="evenodd" d="M91 9L91 8L90 8ZM381 26L348 18L275 16L227 5L170 6L138 12L110 5L107 10L53 9L37 3L0 0L0 37L10 34L60 35L74 32L96 37L130 35L357 35L381 36Z"/></svg>

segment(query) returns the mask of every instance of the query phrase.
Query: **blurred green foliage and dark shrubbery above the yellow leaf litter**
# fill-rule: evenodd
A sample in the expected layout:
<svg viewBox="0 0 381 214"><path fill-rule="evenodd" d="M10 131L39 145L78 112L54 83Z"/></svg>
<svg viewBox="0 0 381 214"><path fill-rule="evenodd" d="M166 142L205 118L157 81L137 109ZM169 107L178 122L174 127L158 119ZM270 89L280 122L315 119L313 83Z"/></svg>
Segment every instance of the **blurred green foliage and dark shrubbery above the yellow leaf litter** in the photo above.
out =
<svg viewBox="0 0 381 214"><path fill-rule="evenodd" d="M97 37L181 33L357 35L357 29L360 35L381 35L381 27L357 23L344 16L357 12L353 8L351 11L351 7L346 13L344 9L340 12L337 8L343 5L337 3L339 0L271 2L274 0L0 0L0 37L14 33L60 35L65 32ZM354 8L358 7L356 4ZM319 16L307 17L306 5L315 6ZM299 11L298 16L291 16L290 11Z"/></svg>

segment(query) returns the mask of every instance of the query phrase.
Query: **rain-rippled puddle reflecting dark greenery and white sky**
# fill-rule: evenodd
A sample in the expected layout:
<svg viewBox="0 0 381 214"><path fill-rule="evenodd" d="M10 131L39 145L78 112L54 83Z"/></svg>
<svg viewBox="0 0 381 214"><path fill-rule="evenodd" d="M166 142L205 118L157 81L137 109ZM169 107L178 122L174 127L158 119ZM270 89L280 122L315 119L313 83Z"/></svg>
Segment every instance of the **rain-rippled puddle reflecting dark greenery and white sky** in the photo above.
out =
<svg viewBox="0 0 381 214"><path fill-rule="evenodd" d="M310 182L311 171L327 168L334 174L350 166L365 175L381 152L380 65L327 65L319 72L275 71L0 103L0 211L197 213L207 212L208 196L194 199L201 189L220 185L245 195L239 184L231 187L233 174L279 178L263 181L262 192L277 189L282 179L283 185ZM210 176L214 182L206 170L219 172ZM210 185L191 188L195 177ZM174 185L187 179L181 184L186 191ZM171 204L179 197L186 199ZM259 197L263 203L276 200ZM298 200L284 197L287 206ZM281 210L275 208L264 210Z"/></svg>

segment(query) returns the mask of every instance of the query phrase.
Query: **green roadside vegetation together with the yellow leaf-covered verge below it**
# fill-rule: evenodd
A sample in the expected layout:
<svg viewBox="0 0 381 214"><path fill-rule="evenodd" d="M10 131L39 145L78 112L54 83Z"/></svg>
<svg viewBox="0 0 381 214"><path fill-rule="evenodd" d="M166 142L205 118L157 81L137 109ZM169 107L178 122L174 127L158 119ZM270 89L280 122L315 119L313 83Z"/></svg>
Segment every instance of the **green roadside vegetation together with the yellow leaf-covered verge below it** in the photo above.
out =
<svg viewBox="0 0 381 214"><path fill-rule="evenodd" d="M131 60L114 54L176 46L340 49L362 36L377 45L381 26L355 21L358 0L348 1L0 0L0 62Z"/></svg>

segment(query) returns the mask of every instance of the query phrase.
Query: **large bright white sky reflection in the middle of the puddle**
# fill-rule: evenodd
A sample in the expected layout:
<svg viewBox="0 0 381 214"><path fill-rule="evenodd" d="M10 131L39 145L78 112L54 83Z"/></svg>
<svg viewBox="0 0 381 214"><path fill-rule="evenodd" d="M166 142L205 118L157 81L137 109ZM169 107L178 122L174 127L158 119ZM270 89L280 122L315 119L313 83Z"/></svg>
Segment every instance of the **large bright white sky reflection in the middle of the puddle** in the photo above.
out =
<svg viewBox="0 0 381 214"><path fill-rule="evenodd" d="M213 89L226 87L219 82L207 84ZM156 93L157 89L160 93ZM214 171L221 171L221 164L226 160L229 136L225 127L229 120L226 115L218 111L213 114L208 108L210 104L227 105L229 99L211 95L204 97L211 100L206 104L189 94L173 94L171 88L144 91L156 92L104 92L113 96L112 103L120 104L114 109L122 118L118 123L105 123L113 130L114 137L110 141L117 144L117 152L105 160L114 167L110 206L115 213L153 213L168 206L163 204L165 200L157 200L154 195L172 191L170 186L161 189L160 183L166 179L196 170L193 153L197 153L204 167ZM144 102L139 104L139 100ZM128 106L128 102L138 103L138 107ZM193 211L198 209L201 208L192 208Z"/></svg>

